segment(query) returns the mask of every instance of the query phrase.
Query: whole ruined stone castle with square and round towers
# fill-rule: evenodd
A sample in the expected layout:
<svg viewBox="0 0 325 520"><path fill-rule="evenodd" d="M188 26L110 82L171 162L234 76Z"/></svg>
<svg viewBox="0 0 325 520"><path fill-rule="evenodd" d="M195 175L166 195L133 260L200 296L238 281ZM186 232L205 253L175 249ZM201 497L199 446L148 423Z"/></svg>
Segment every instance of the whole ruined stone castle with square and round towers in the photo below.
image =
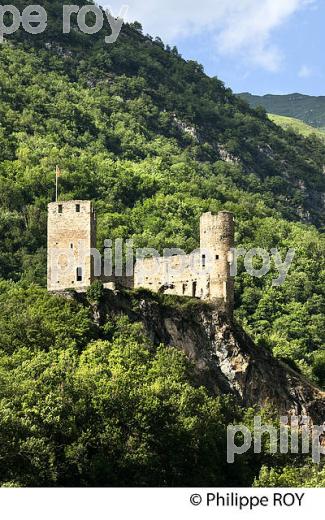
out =
<svg viewBox="0 0 325 520"><path fill-rule="evenodd" d="M232 312L234 280L231 250L234 217L227 211L200 219L200 249L191 255L138 258L133 275L104 275L94 269L96 214L90 201L53 202L48 206L48 275L51 292L83 292L96 280L114 289L146 288L215 302ZM98 263L97 263L98 265Z"/></svg>

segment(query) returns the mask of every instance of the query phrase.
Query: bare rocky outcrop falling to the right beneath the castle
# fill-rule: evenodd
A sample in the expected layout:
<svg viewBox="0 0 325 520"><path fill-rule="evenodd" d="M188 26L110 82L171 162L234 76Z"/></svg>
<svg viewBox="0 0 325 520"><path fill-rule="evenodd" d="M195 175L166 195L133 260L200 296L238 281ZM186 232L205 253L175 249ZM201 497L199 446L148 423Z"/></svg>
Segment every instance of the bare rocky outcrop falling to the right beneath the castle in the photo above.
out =
<svg viewBox="0 0 325 520"><path fill-rule="evenodd" d="M142 322L153 344L182 349L195 365L197 384L212 395L227 393L246 407L271 405L279 414L325 420L325 393L257 347L212 304L147 291L105 291L93 310L98 323L127 315Z"/></svg>

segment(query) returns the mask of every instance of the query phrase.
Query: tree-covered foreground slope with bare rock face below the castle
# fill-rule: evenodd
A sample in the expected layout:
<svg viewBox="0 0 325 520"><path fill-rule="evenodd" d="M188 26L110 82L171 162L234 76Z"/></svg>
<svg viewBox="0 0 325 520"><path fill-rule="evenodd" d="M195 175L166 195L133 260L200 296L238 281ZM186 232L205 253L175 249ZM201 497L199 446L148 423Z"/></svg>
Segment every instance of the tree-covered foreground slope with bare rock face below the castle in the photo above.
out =
<svg viewBox="0 0 325 520"><path fill-rule="evenodd" d="M227 463L228 425L253 428L243 404L321 423L324 394L213 306L0 282L0 308L1 486L247 487L262 464L308 463L267 440Z"/></svg>

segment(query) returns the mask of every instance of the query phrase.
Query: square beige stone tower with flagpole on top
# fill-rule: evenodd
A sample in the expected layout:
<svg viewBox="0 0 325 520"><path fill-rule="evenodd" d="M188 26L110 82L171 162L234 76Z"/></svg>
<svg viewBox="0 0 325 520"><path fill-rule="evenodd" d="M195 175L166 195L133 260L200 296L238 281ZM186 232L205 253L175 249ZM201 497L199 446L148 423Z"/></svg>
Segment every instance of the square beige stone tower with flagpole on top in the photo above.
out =
<svg viewBox="0 0 325 520"><path fill-rule="evenodd" d="M85 200L48 205L47 288L83 291L94 281L92 249L96 247L96 215Z"/></svg>

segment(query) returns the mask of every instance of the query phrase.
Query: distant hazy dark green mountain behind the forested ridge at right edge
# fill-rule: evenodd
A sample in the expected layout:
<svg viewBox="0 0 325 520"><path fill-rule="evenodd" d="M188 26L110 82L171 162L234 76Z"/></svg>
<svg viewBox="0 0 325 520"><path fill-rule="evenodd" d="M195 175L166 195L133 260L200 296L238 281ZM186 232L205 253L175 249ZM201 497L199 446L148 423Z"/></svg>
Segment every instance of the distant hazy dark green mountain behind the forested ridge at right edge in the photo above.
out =
<svg viewBox="0 0 325 520"><path fill-rule="evenodd" d="M315 128L325 128L325 96L304 94L255 96L244 92L238 94L252 108L261 106L271 114L300 119Z"/></svg>

